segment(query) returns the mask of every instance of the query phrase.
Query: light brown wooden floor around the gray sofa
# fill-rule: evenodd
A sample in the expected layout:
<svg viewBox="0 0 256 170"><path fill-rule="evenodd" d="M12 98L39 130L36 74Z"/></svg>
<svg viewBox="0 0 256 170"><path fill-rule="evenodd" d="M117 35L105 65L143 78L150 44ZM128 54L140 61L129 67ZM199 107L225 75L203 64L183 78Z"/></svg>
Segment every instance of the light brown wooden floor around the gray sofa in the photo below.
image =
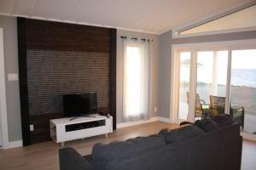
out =
<svg viewBox="0 0 256 170"><path fill-rule="evenodd" d="M165 122L149 122L134 127L125 127L116 130L108 136L104 135L92 137L89 139L75 140L67 142L65 146L72 146L79 153L84 155L90 154L91 148L96 143L109 143L113 140L125 140L137 136L148 136L150 134L158 133L160 129L169 127L177 127L175 124ZM52 141L33 144L27 147L20 147L10 150L0 150L0 170L53 170L59 169L58 150L59 144ZM244 141L242 152L242 170L256 169L256 143Z"/></svg>

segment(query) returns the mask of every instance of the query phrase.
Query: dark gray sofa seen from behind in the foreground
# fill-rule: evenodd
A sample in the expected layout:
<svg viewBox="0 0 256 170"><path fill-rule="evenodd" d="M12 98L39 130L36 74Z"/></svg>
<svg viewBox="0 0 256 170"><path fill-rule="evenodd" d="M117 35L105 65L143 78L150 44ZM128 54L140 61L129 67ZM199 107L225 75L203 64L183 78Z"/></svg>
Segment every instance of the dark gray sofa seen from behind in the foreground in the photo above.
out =
<svg viewBox="0 0 256 170"><path fill-rule="evenodd" d="M239 124L210 120L96 144L89 156L73 148L61 149L59 156L61 170L239 170L241 147Z"/></svg>

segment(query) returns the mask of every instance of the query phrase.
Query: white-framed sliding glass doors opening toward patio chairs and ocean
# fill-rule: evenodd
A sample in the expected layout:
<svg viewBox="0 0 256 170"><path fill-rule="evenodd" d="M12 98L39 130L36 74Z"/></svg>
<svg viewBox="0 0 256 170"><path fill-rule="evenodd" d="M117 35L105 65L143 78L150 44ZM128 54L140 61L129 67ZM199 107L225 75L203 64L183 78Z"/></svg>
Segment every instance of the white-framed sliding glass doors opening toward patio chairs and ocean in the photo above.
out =
<svg viewBox="0 0 256 170"><path fill-rule="evenodd" d="M256 40L211 43L172 47L173 122L226 113L256 139Z"/></svg>

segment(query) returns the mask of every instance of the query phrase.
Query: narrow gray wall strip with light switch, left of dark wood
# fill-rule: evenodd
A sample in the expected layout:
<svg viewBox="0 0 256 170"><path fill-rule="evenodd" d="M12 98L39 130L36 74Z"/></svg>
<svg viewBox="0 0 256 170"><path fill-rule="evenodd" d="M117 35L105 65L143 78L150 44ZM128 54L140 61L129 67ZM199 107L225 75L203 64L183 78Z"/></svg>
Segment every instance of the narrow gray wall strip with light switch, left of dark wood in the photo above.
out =
<svg viewBox="0 0 256 170"><path fill-rule="evenodd" d="M3 53L5 66L5 86L9 141L22 139L20 119L20 85L18 81L9 82L9 73L18 73L17 20L14 17L0 16L3 28Z"/></svg>

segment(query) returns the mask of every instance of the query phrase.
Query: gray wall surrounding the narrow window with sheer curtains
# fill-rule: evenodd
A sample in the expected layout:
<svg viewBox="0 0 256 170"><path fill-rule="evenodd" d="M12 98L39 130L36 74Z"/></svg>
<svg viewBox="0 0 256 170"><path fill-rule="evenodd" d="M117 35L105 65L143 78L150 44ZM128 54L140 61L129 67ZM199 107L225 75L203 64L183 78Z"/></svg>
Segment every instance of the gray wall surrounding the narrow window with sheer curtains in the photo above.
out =
<svg viewBox="0 0 256 170"><path fill-rule="evenodd" d="M152 68L151 68L151 93L152 99L150 104L150 117L158 116L154 112L154 106L158 103L158 61L159 61L159 36L154 34L146 34L135 31L117 31L117 60L116 60L116 116L117 123L123 122L123 43L121 36L126 37L148 37L153 39L152 42Z"/></svg>

